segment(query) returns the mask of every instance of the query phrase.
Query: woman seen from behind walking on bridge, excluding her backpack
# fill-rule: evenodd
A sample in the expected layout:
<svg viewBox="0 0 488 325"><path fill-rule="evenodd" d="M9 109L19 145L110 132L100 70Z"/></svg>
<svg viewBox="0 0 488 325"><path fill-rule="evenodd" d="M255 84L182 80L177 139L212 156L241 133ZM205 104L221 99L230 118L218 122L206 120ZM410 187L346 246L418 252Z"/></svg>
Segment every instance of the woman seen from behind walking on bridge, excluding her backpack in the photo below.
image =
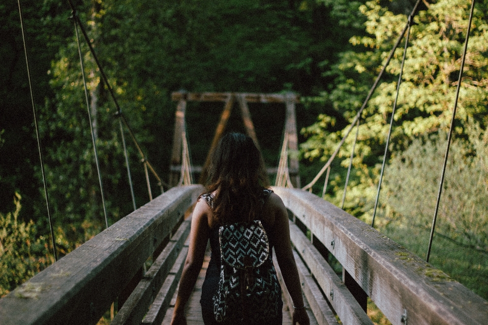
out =
<svg viewBox="0 0 488 325"><path fill-rule="evenodd" d="M280 197L263 187L266 185L263 159L253 140L239 133L225 135L212 157L206 192L200 196L193 211L190 246L181 274L172 325L186 324L185 306L202 267L208 240L212 254L202 285L200 304L203 321L205 325L226 324L225 321L216 321L212 303L221 271L219 227L258 219L267 234L270 249L275 248L285 285L293 306L296 306L293 325L297 322L309 325L291 248L288 213ZM267 324L282 323L281 297L279 303L279 313Z"/></svg>

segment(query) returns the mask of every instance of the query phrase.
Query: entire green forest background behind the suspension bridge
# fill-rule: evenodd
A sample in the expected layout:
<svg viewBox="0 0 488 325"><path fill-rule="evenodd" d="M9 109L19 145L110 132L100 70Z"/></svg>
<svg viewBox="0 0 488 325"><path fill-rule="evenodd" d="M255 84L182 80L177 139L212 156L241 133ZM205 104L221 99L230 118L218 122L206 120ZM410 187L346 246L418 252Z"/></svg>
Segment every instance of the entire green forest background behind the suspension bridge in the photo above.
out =
<svg viewBox="0 0 488 325"><path fill-rule="evenodd" d="M300 177L310 182L361 107L413 8L411 0L75 1L80 20L142 150L168 180L171 92L294 91ZM105 228L68 2L21 2L55 243L60 256ZM470 2L422 1L413 18L376 227L426 256ZM430 262L488 299L488 1L478 1ZM0 4L0 297L53 262L17 2ZM82 41L89 109L109 225L133 210L116 108ZM362 113L344 209L371 223L403 43ZM187 132L202 165L222 104L190 103ZM268 166L284 111L251 105ZM228 129L243 131L234 110ZM126 131L127 132L127 131ZM342 206L354 134L324 198ZM127 135L126 135L127 138ZM128 140L136 205L148 201ZM271 180L272 181L272 180ZM157 182L151 179L153 192ZM324 176L313 186L323 193Z"/></svg>

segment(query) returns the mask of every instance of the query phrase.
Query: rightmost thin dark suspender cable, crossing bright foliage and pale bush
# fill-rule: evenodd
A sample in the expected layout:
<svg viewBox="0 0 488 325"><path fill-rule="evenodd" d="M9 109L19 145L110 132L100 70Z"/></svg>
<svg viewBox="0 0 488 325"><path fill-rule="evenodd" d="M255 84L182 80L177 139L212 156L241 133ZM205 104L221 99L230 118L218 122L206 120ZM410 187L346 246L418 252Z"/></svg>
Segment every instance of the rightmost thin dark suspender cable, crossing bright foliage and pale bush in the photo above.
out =
<svg viewBox="0 0 488 325"><path fill-rule="evenodd" d="M439 211L439 202L441 201L442 185L444 184L444 175L446 173L447 155L449 154L449 146L451 143L452 129L454 128L454 119L456 117L457 100L459 99L459 90L461 88L461 79L463 77L464 62L466 60L466 52L468 49L469 33L471 31L471 21L473 20L474 2L475 2L474 0L471 2L471 11L469 13L468 30L466 32L466 40L464 42L463 58L461 61L461 69L459 71L459 78L457 79L457 88L456 88L456 96L455 96L455 100L454 100L454 109L452 112L451 125L449 128L449 135L447 137L446 154L444 155L444 164L442 166L441 181L439 182L439 192L437 194L437 202L436 202L436 210L434 212L434 219L432 220L432 229L431 229L431 236L429 239L429 248L427 249L427 257L425 259L426 262L429 262L429 257L431 255L431 248L432 248L432 240L434 238L434 231L436 229L437 212Z"/></svg>

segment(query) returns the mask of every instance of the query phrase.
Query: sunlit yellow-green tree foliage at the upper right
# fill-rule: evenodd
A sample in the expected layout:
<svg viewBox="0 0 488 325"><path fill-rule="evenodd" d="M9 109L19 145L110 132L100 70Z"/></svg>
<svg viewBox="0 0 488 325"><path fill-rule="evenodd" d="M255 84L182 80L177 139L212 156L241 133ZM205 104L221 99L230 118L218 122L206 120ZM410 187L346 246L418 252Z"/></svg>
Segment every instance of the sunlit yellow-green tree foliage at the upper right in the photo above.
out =
<svg viewBox="0 0 488 325"><path fill-rule="evenodd" d="M414 17L416 24L411 27L390 151L402 150L421 135L446 131L449 127L469 5L470 2L464 0L442 0L429 4L429 8L423 8ZM488 122L486 9L487 2L477 3L457 106L456 137L467 137L465 128L469 124L469 117L478 121L482 128ZM345 135L349 128L348 122L362 105L393 43L407 22L406 15L392 13L382 7L379 0L360 6L360 12L366 18L364 28L367 35L350 39L355 49L342 53L340 61L332 66L330 74L335 76L335 86L318 99L334 110L328 115L335 118L339 129L324 123L323 116L311 127L304 128L302 133L310 137L301 146L305 157L320 158L323 161L329 158L329 153L337 146L337 140ZM374 187L378 183L402 56L401 46L395 51L382 82L361 116L346 207L349 211L356 209L354 213L366 219L371 217L369 213L376 197ZM354 131L339 151L339 159L344 167L349 165ZM328 191L328 199L337 204L343 194L345 171L332 173L330 179L337 179L341 185L331 187Z"/></svg>

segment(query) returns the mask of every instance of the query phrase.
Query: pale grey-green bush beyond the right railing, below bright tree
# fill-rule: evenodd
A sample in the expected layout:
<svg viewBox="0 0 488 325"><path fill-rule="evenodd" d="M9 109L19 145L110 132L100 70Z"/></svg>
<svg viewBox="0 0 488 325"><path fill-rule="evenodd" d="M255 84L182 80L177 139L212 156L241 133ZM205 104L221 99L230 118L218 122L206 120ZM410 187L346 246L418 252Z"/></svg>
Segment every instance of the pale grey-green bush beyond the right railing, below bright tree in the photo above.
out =
<svg viewBox="0 0 488 325"><path fill-rule="evenodd" d="M488 132L468 128L469 142L455 139L439 204L436 231L462 247L488 254ZM385 171L384 209L397 228L430 230L444 161L446 136L416 139ZM439 172L436 172L439 171Z"/></svg>

